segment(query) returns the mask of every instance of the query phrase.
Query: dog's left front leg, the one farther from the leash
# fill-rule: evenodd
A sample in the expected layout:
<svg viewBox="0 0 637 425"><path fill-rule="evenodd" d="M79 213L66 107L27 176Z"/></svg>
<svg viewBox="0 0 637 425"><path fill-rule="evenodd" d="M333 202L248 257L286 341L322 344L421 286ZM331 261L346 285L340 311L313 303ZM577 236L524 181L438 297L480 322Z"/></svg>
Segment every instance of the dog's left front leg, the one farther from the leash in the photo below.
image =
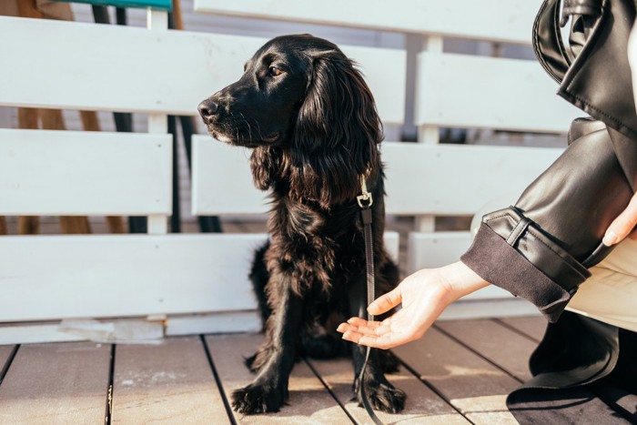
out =
<svg viewBox="0 0 637 425"><path fill-rule="evenodd" d="M288 379L296 356L303 299L292 291L288 278L278 283L281 290L277 305L271 306L274 313L268 319L266 341L254 360L257 378L232 394L232 407L239 413L278 411L288 398Z"/></svg>

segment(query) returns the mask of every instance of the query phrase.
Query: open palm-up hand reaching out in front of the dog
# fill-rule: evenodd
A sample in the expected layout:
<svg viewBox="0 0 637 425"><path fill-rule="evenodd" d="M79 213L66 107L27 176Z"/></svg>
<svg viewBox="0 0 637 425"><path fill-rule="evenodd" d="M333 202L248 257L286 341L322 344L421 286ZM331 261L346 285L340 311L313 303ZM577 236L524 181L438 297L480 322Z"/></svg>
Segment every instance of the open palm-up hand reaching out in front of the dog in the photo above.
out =
<svg viewBox="0 0 637 425"><path fill-rule="evenodd" d="M443 268L422 269L369 304L369 314L379 315L402 303L383 321L351 318L337 329L343 339L378 349L391 349L420 339L451 302L489 285L461 262Z"/></svg>

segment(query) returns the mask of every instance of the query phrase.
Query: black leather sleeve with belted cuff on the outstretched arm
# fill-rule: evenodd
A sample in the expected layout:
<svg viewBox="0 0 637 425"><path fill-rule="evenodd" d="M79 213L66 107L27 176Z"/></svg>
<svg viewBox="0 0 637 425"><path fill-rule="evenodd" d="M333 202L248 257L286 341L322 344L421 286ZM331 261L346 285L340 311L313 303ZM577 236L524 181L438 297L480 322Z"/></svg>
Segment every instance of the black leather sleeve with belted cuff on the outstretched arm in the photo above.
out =
<svg viewBox="0 0 637 425"><path fill-rule="evenodd" d="M610 252L603 235L632 197L601 121L578 119L569 136L571 145L514 206L482 218L460 258L481 278L529 299L550 321L591 275L587 268Z"/></svg>

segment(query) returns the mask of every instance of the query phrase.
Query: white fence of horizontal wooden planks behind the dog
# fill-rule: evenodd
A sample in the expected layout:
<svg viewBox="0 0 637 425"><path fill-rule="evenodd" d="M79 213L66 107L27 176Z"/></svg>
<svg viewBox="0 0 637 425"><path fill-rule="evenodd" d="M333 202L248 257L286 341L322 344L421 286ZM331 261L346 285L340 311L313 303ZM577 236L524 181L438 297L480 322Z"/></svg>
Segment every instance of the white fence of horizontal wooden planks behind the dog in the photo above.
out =
<svg viewBox="0 0 637 425"><path fill-rule="evenodd" d="M453 261L469 247L468 231L436 232L434 217L470 215L493 197L519 192L559 155L550 148L438 144L442 126L566 130L577 111L553 95L535 62L443 49L447 36L528 44L539 5L196 0L195 10L423 37L413 113L420 143L383 145L388 214L419 218L408 244L413 270ZM150 218L148 235L1 237L0 342L20 341L15 322L33 320L150 316L164 319L167 334L258 327L247 272L265 235L167 235L166 114L195 115L198 102L236 80L266 40L168 31L165 14L149 17L151 29L0 17L0 39L12 40L0 44L0 106L142 112L149 120L149 134L0 130L0 215ZM403 123L407 50L341 47L360 64L383 121ZM265 211L241 149L201 136L193 150L195 214ZM397 235L387 238L396 255ZM511 313L498 310L511 303L506 297L485 289L450 314ZM53 329L32 340L70 338L51 326L31 329Z"/></svg>

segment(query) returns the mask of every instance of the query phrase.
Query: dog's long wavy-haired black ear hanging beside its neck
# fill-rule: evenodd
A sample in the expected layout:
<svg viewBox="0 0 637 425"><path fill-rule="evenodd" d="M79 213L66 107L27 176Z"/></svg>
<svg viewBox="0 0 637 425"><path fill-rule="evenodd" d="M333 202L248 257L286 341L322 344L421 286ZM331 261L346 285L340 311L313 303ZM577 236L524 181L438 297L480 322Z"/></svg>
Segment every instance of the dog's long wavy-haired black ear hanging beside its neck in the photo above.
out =
<svg viewBox="0 0 637 425"><path fill-rule="evenodd" d="M338 47L315 54L311 68L286 166L292 195L329 207L355 199L361 175L376 181L382 127L363 76Z"/></svg>

